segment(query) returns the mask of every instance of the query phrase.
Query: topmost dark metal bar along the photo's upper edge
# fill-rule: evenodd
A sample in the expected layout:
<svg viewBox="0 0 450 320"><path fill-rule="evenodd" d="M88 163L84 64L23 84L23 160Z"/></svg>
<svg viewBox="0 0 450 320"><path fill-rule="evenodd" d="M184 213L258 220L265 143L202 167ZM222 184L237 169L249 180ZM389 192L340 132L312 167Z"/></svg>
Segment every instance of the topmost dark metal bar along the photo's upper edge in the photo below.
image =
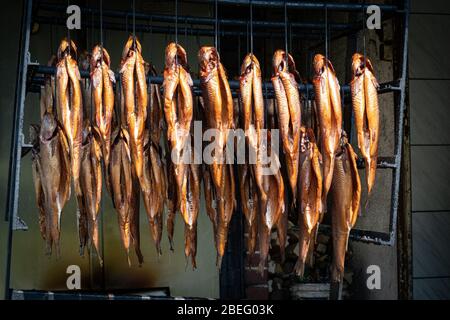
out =
<svg viewBox="0 0 450 320"><path fill-rule="evenodd" d="M195 3L213 2L214 0L202 0L202 1L190 1ZM248 0L218 0L219 4L231 4L231 5L248 5ZM255 7L283 7L283 0L254 0L253 5ZM328 10L333 11L361 11L363 8L367 8L371 5L377 5L381 11L389 12L403 12L396 5L383 4L383 3L325 3L325 2L304 2L304 1L288 1L287 6L289 9L303 9L303 10L324 10L325 7Z"/></svg>

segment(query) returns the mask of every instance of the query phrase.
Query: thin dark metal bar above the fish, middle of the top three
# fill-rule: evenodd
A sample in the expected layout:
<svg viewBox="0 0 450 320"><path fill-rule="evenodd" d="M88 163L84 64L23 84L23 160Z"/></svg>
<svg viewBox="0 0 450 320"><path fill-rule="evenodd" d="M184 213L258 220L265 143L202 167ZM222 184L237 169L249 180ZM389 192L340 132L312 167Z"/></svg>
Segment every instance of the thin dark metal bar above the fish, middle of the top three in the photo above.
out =
<svg viewBox="0 0 450 320"><path fill-rule="evenodd" d="M219 1L220 2L220 1ZM45 11L50 12L63 12L66 8L62 5L58 4L50 4L50 3L40 3L39 9L43 9ZM91 14L99 14L99 10L96 8L87 8L80 7L81 12L83 13L91 13ZM129 16L131 13L128 11L120 11L120 10L103 10L103 16L109 18L124 18ZM152 22L175 22L178 20L178 23L184 24L197 24L197 25L208 25L213 26L215 24L214 18L207 17L194 17L194 16L178 16L178 19L172 15L164 15L164 14L146 14L146 13L138 13L136 12L136 20L151 20ZM246 20L237 20L237 19L218 19L218 22L221 25L226 26L239 26L245 27L248 23ZM354 30L360 27L361 23L330 23L329 27L334 30ZM253 26L257 28L284 28L283 22L277 21L253 21ZM313 22L292 22L290 23L290 27L294 29L323 29L323 23L313 23Z"/></svg>

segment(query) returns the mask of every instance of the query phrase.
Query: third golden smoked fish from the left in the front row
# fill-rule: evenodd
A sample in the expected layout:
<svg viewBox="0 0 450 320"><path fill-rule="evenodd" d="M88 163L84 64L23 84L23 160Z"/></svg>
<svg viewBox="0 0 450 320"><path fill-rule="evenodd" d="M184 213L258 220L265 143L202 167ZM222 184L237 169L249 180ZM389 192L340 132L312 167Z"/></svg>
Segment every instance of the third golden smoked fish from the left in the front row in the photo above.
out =
<svg viewBox="0 0 450 320"><path fill-rule="evenodd" d="M123 91L124 112L130 134L131 158L141 189L146 188L143 179L144 128L147 118L147 81L141 44L130 36L122 52L120 77Z"/></svg>

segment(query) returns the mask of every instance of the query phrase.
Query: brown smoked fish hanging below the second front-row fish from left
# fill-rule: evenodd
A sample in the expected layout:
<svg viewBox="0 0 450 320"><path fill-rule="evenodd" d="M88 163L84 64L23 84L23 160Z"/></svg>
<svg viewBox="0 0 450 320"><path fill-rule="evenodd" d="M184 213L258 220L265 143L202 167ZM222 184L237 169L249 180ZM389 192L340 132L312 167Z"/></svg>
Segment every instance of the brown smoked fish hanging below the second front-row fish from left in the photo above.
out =
<svg viewBox="0 0 450 320"><path fill-rule="evenodd" d="M102 265L98 233L98 215L102 197L101 147L98 142L99 138L96 138L98 135L89 121L85 120L80 169L83 206L80 208L80 214L83 215L82 221L86 222L81 229L87 230L88 248L91 250L94 247L100 265ZM83 250L83 248L81 249Z"/></svg>

